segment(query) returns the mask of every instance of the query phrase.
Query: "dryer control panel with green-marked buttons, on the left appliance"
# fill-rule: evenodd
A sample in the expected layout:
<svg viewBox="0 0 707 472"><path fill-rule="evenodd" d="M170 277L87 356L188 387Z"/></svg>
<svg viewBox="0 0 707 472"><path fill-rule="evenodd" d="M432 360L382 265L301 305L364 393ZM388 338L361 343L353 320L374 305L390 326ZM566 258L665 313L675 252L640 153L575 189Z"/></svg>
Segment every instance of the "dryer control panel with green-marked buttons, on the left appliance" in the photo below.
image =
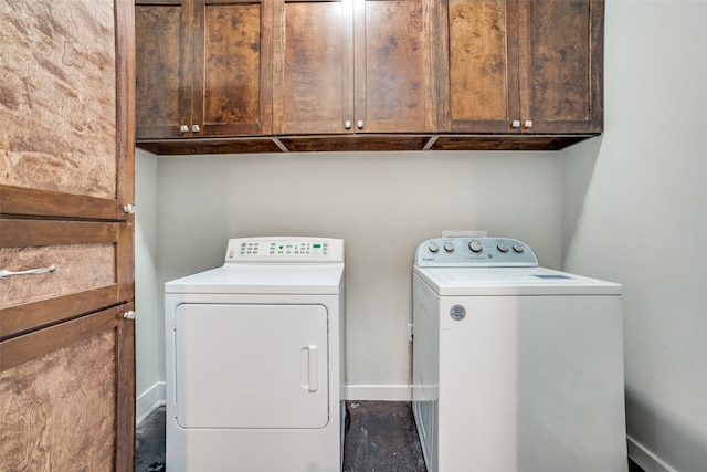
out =
<svg viewBox="0 0 707 472"><path fill-rule="evenodd" d="M258 237L229 240L225 262L344 262L344 240L308 237Z"/></svg>

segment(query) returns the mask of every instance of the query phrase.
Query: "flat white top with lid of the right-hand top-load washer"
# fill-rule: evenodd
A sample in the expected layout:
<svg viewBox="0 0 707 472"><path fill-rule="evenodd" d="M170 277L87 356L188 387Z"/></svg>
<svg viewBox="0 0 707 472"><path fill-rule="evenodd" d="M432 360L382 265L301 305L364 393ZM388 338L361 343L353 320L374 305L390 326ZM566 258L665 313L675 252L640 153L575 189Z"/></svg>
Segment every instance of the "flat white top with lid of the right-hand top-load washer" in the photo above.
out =
<svg viewBox="0 0 707 472"><path fill-rule="evenodd" d="M437 295L620 295L621 285L545 268L419 268Z"/></svg>

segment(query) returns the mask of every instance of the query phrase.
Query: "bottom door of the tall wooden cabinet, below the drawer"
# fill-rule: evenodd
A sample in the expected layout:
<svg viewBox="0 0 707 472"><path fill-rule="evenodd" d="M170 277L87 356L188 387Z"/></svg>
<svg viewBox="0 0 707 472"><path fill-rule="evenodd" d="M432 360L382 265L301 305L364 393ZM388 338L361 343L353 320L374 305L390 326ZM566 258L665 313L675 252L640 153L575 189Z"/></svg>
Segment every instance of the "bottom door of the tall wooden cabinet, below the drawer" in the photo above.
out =
<svg viewBox="0 0 707 472"><path fill-rule="evenodd" d="M135 470L128 308L0 344L0 470Z"/></svg>

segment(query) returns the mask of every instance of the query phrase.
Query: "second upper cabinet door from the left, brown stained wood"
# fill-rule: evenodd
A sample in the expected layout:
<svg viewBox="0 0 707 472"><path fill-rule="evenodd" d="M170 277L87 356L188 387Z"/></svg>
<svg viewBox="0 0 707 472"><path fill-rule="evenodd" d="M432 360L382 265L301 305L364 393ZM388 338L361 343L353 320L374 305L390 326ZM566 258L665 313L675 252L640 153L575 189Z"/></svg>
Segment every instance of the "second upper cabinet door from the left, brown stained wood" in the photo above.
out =
<svg viewBox="0 0 707 472"><path fill-rule="evenodd" d="M270 134L272 1L197 1L192 24L191 135Z"/></svg>

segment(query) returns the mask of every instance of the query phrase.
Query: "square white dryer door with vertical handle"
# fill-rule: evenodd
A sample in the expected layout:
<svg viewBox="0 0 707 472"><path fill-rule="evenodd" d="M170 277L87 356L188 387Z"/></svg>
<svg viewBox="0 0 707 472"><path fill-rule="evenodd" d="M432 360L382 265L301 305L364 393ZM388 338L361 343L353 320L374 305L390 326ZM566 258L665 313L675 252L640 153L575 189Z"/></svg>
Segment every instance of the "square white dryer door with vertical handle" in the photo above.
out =
<svg viewBox="0 0 707 472"><path fill-rule="evenodd" d="M323 305L181 304L175 349L183 428L324 428L329 421Z"/></svg>

